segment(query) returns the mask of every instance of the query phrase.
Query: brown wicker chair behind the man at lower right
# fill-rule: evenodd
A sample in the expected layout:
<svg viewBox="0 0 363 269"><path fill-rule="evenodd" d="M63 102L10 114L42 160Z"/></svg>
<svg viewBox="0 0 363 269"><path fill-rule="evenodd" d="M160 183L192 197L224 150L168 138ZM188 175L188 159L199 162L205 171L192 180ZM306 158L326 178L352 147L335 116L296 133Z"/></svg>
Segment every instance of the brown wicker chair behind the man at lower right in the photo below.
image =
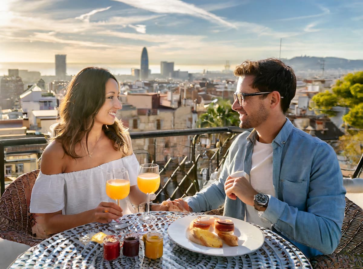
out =
<svg viewBox="0 0 363 269"><path fill-rule="evenodd" d="M345 198L342 238L332 254L310 258L314 269L363 268L363 209Z"/></svg>

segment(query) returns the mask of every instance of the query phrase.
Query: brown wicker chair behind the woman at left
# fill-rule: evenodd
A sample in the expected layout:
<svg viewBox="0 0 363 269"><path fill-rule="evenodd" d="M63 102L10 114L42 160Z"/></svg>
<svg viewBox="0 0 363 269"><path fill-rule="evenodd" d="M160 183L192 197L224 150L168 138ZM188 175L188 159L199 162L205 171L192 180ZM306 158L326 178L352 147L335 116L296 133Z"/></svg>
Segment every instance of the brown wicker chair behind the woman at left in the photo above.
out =
<svg viewBox="0 0 363 269"><path fill-rule="evenodd" d="M40 170L20 175L0 197L0 237L34 246L44 239L33 236L34 219L29 213L30 196Z"/></svg>

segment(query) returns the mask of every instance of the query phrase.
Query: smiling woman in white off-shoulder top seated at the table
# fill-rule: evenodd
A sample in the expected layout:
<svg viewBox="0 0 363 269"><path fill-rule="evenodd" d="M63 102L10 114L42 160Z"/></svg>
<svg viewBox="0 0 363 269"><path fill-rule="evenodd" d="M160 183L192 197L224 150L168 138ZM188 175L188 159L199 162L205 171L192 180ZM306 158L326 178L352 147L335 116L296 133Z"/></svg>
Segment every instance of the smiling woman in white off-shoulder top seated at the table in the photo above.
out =
<svg viewBox="0 0 363 269"><path fill-rule="evenodd" d="M32 190L30 212L38 237L122 216L125 199L119 207L106 195L108 170L127 168L131 203L144 201L129 132L115 117L122 109L118 95L118 82L106 69L84 68L70 82L59 107L57 135L42 154Z"/></svg>

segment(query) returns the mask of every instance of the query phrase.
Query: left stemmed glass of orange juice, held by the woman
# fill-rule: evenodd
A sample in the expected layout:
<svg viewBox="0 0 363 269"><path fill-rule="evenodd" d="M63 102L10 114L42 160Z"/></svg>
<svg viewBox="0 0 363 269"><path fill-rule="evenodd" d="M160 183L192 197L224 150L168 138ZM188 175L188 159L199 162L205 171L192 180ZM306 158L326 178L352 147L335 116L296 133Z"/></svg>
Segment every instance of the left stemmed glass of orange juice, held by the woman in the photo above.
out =
<svg viewBox="0 0 363 269"><path fill-rule="evenodd" d="M120 206L120 200L125 199L130 193L129 171L125 168L113 169L107 172L106 194L111 199L116 200ZM123 229L125 225L121 225L118 220L111 221L110 226L113 229Z"/></svg>

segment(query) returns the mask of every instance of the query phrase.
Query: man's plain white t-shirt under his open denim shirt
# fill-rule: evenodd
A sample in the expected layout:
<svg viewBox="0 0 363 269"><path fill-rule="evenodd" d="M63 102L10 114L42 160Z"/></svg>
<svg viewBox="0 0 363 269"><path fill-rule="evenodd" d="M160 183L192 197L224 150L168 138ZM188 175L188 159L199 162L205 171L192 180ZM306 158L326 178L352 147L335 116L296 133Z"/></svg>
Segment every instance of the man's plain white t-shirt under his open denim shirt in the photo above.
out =
<svg viewBox="0 0 363 269"><path fill-rule="evenodd" d="M252 153L252 166L250 172L250 183L257 192L275 196L272 183L272 144L265 144L255 140ZM264 228L271 228L271 223L259 217L257 210L246 205L246 221L258 224Z"/></svg>

